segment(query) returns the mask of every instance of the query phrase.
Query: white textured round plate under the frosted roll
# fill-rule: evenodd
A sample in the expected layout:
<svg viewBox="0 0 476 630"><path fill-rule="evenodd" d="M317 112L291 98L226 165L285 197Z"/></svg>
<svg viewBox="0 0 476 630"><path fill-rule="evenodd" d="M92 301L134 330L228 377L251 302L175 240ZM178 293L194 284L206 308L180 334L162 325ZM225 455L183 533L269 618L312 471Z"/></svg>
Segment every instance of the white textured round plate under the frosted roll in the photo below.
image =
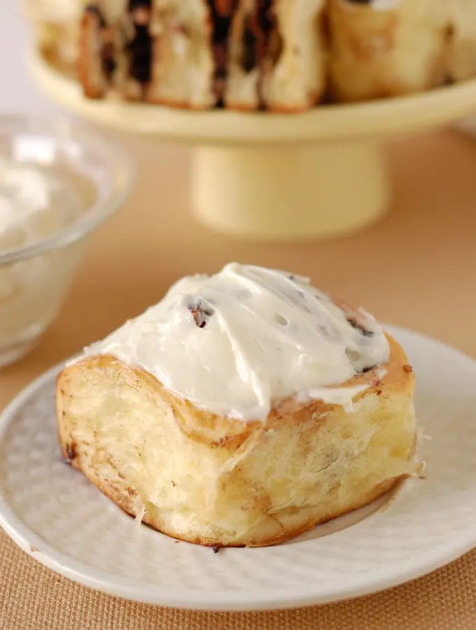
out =
<svg viewBox="0 0 476 630"><path fill-rule="evenodd" d="M432 437L425 479L385 505L276 547L212 549L139 526L62 461L55 368L0 419L0 524L28 554L87 586L160 605L252 610L324 603L419 577L476 546L476 362L391 328L418 379ZM350 524L350 526L349 526Z"/></svg>

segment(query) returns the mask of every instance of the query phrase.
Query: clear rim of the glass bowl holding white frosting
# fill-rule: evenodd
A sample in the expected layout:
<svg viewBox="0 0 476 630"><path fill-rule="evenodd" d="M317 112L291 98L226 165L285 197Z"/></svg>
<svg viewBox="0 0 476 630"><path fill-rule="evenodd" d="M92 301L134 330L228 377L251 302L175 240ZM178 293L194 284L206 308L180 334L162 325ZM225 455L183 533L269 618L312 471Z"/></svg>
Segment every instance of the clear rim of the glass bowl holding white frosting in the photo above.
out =
<svg viewBox="0 0 476 630"><path fill-rule="evenodd" d="M0 266L11 262L33 258L36 255L55 249L65 248L76 241L80 241L90 235L104 221L111 217L130 195L136 181L137 167L130 154L116 141L111 141L97 131L75 118L64 116L61 113L55 115L29 116L27 114L1 113L0 132L9 126L18 125L25 130L35 128L47 130L49 136L58 138L61 142L61 133L67 131L68 137L77 144L99 150L107 155L110 160L112 176L111 186L106 198L97 195L94 202L84 209L78 220L73 221L62 230L54 232L43 239L38 239L31 244L13 249L0 248ZM116 182L119 180L120 183Z"/></svg>

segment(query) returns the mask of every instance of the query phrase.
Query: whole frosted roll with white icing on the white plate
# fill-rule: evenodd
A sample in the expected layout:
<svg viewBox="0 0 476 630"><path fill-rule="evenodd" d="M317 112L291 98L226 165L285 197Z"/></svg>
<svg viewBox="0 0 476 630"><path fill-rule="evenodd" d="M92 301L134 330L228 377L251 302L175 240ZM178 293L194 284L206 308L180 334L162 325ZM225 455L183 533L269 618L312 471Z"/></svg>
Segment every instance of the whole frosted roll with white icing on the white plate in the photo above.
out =
<svg viewBox="0 0 476 630"><path fill-rule="evenodd" d="M177 282L59 374L59 441L163 533L272 545L418 472L413 393L370 314L232 263Z"/></svg>

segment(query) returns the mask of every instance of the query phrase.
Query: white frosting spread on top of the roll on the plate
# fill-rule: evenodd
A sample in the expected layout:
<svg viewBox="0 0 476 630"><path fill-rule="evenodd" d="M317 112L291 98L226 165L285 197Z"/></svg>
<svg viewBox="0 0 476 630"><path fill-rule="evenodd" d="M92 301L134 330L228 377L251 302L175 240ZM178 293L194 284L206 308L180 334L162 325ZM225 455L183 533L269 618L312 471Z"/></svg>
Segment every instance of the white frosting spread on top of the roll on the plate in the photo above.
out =
<svg viewBox="0 0 476 630"><path fill-rule="evenodd" d="M389 346L370 314L308 279L230 263L181 279L85 354L141 367L201 409L263 420L290 396L349 405L366 386L338 385L386 363Z"/></svg>

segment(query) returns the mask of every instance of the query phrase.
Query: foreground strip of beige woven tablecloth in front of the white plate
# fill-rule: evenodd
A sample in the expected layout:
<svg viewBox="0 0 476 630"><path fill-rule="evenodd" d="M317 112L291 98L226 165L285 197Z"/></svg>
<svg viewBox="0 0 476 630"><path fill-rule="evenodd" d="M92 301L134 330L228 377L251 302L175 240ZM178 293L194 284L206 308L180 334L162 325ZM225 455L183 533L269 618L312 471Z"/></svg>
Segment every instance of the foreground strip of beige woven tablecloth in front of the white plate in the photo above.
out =
<svg viewBox="0 0 476 630"><path fill-rule="evenodd" d="M401 587L272 612L191 612L123 601L59 577L0 531L1 630L468 630L476 628L476 550Z"/></svg>

